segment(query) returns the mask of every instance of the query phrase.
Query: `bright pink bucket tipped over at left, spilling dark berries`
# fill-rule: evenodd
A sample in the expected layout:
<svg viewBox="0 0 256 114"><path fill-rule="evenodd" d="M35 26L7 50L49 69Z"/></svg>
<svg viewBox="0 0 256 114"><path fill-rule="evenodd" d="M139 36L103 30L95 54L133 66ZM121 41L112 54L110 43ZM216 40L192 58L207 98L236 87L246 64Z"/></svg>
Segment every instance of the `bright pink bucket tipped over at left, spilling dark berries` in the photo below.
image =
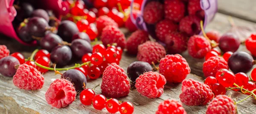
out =
<svg viewBox="0 0 256 114"><path fill-rule="evenodd" d="M36 41L31 42L30 44L23 42L15 33L12 21L17 15L17 12L12 6L13 3L14 0L0 0L0 33L14 38L22 44L36 45ZM62 0L37 0L37 3L40 4L40 7L38 8L52 10L56 14L56 17L59 17L61 14L65 14L68 11L68 7L62 3Z"/></svg>

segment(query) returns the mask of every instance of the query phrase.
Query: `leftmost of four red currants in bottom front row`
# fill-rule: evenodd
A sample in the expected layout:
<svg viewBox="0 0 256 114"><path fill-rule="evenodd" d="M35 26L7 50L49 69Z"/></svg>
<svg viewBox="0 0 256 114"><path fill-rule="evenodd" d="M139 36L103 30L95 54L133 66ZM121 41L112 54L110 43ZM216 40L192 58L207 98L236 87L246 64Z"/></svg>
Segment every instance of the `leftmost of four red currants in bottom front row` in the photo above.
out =
<svg viewBox="0 0 256 114"><path fill-rule="evenodd" d="M93 89L84 89L81 93L80 93L80 101L82 104L84 105L91 105L92 101L93 101L93 97L95 96L95 92L93 91Z"/></svg>

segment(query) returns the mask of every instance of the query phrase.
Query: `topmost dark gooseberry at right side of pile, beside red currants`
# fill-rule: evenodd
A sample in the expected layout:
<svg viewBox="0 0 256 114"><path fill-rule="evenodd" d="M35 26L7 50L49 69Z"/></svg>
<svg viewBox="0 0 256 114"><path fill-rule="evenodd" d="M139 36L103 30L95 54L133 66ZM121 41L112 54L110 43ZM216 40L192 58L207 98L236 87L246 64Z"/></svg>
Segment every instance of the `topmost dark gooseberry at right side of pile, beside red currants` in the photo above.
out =
<svg viewBox="0 0 256 114"><path fill-rule="evenodd" d="M78 28L76 24L72 21L65 20L62 21L58 26L58 36L60 36L64 41L71 42L72 37L78 33Z"/></svg>

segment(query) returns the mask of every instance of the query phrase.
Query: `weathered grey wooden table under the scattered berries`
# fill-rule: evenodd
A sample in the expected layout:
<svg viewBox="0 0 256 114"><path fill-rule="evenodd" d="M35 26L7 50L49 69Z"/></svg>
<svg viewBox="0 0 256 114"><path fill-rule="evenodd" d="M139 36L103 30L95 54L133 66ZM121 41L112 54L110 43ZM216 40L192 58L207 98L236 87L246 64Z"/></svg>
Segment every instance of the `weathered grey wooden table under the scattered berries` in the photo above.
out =
<svg viewBox="0 0 256 114"><path fill-rule="evenodd" d="M255 0L219 0L219 12L216 14L213 21L207 25L206 31L218 30L221 33L227 32L230 27L228 21L228 15L233 17L234 22L238 26L247 27L241 33L245 33L248 36L250 31L256 32L256 4ZM129 34L129 33L128 33ZM126 34L128 36L128 34ZM33 50L37 47L26 47L13 39L6 38L6 36L0 36L0 44L5 44L11 51L20 52L26 58L30 56ZM240 51L246 51L245 46L239 47ZM248 52L249 53L249 52ZM191 73L187 78L192 78L198 81L204 81L204 74L202 72L202 66L204 59L195 59L189 56L186 52L182 53L182 56L186 58L191 68ZM132 62L137 61L135 56L129 56L126 53L122 55L120 66L127 70L127 67ZM81 62L81 61L80 61ZM69 65L66 67L70 67ZM61 71L62 73L64 71ZM250 75L250 72L247 73ZM44 87L38 91L26 91L17 89L12 83L12 78L4 77L0 75L0 114L5 114L8 109L9 114L105 114L108 113L106 109L98 111L93 106L81 105L79 97L67 106L66 108L56 109L49 106L45 100L45 92L49 88L49 85L56 78L60 78L60 75L54 75L54 72L47 72L44 74L45 83ZM93 88L94 85L101 83L102 79L89 80L87 87ZM95 89L96 94L100 94L100 88ZM166 84L164 88L164 94L160 98L148 99L140 96L136 90L132 90L127 97L120 98L119 100L130 101L134 105L135 114L154 114L157 110L157 106L160 102L166 99L176 99L179 101L179 95L181 93L181 83L179 84ZM238 100L244 99L247 95L243 95L239 92L227 91L228 94L232 94L232 98L238 98ZM207 106L186 106L183 105L188 114L205 114ZM238 108L241 114L256 114L256 100L253 97L248 98L242 103L238 104Z"/></svg>

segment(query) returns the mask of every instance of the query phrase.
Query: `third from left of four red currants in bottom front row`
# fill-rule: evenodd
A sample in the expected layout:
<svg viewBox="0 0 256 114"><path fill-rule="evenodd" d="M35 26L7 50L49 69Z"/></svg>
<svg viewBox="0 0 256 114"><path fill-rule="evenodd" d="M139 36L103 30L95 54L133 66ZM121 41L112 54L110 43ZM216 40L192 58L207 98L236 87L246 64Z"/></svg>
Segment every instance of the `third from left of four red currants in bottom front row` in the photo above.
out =
<svg viewBox="0 0 256 114"><path fill-rule="evenodd" d="M105 104L106 109L110 113L116 113L119 108L119 101L117 99L110 99Z"/></svg>

